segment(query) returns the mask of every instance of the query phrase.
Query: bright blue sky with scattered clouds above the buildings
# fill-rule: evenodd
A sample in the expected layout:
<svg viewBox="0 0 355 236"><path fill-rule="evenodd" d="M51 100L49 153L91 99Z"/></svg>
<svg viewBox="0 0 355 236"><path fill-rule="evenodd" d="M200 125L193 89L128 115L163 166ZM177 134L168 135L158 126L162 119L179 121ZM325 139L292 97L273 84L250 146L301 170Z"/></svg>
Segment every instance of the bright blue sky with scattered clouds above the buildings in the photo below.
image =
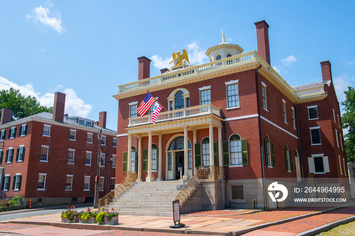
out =
<svg viewBox="0 0 355 236"><path fill-rule="evenodd" d="M355 1L10 1L0 0L0 89L14 87L65 112L117 129L118 85L136 81L137 57L152 59L151 76L186 49L191 64L226 41L257 50L254 22L270 25L271 65L291 85L322 80L332 64L339 101L355 86Z"/></svg>

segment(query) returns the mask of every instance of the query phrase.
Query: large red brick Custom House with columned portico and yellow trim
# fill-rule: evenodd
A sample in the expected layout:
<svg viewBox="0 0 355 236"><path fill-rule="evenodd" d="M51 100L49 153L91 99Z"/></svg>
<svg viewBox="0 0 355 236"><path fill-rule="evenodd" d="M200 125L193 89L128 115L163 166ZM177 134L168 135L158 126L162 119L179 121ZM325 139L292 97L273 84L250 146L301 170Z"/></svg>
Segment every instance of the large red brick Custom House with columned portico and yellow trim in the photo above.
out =
<svg viewBox="0 0 355 236"><path fill-rule="evenodd" d="M250 208L254 199L257 207L271 206L266 189L273 178L293 179L296 185L309 173L346 177L330 62L321 62L321 82L291 88L270 66L269 25L255 25L258 52L243 53L223 34L222 43L207 50L208 63L184 63L154 77L151 60L138 58L138 81L119 86L114 95L122 144L117 183L126 171L136 171L138 181L163 181L180 178L179 164L184 179L200 166L219 166L225 179L215 208L226 200ZM166 109L155 124L152 109L143 117L136 111L147 90Z"/></svg>

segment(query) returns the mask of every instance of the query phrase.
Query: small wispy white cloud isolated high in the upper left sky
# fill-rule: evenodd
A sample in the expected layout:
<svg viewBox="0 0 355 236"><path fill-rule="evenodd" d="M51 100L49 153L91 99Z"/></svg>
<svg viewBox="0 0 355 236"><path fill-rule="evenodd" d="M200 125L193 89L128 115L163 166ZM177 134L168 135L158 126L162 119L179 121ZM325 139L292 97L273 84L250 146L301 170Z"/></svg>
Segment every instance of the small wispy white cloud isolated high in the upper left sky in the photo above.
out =
<svg viewBox="0 0 355 236"><path fill-rule="evenodd" d="M52 7L53 4L49 4L49 7ZM26 15L26 19L32 19L34 20L35 23L38 21L43 23L46 26L49 26L56 30L58 33L62 33L65 31L63 26L61 25L62 22L60 20L60 13L54 14L54 17L51 17L51 12L49 11L48 8L39 6L37 8L34 8L33 10L33 15Z"/></svg>

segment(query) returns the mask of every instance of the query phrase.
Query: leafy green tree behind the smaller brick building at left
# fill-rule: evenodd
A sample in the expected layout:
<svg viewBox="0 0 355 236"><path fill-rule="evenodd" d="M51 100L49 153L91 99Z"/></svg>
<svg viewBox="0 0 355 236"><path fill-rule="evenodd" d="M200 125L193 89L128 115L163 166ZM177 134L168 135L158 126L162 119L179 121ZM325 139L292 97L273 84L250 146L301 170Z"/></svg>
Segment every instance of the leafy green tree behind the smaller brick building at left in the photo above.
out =
<svg viewBox="0 0 355 236"><path fill-rule="evenodd" d="M44 111L53 113L52 106L49 108L41 106L35 97L22 96L19 90L14 88L10 88L10 90L3 89L0 91L0 109L2 108L12 109L11 121Z"/></svg>

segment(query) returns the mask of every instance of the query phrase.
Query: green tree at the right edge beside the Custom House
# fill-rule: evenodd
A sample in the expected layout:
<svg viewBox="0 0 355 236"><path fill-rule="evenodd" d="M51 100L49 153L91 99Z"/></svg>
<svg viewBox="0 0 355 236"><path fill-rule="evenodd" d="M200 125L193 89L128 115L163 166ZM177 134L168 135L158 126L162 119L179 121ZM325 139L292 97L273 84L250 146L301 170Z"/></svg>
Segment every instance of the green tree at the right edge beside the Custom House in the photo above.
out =
<svg viewBox="0 0 355 236"><path fill-rule="evenodd" d="M348 87L345 101L341 102L345 113L341 116L343 129L348 133L344 135L344 144L347 162L355 162L355 90Z"/></svg>

